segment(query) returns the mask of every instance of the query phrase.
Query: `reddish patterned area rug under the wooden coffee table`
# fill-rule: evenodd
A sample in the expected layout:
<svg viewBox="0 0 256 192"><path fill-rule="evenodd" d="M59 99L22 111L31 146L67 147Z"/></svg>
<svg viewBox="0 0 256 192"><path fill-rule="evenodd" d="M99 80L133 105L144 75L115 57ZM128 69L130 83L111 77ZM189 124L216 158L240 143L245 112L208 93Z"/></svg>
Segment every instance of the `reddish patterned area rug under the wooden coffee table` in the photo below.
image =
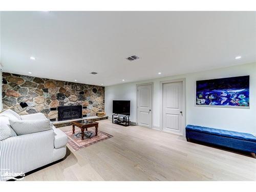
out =
<svg viewBox="0 0 256 192"><path fill-rule="evenodd" d="M97 143L97 142L100 142L100 141L103 141L105 139L109 139L109 138L113 137L112 135L107 134L107 133L102 132L102 131L99 131L99 130L98 130L98 135L95 136L95 129L94 128L88 128L88 132L93 132L93 135L92 135L93 137L86 138L84 136L83 140L81 140L81 135L79 134L79 133L81 133L81 131L78 130L78 129L75 130L75 134L72 133L72 130L66 131L64 133L69 137L69 142L68 143L69 143L70 146L72 146L72 148L75 151L80 150L80 148L87 147L87 146L90 146L94 143ZM86 131L84 131L84 133L86 133Z"/></svg>

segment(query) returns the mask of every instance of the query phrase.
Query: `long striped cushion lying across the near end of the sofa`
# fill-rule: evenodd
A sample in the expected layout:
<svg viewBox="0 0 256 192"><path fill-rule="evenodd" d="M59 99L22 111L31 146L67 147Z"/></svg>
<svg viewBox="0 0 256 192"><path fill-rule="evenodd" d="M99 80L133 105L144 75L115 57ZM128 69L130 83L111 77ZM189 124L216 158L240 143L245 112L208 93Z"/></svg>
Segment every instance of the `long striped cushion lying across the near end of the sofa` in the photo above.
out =
<svg viewBox="0 0 256 192"><path fill-rule="evenodd" d="M49 119L45 120L9 120L12 129L17 135L26 135L51 130Z"/></svg>

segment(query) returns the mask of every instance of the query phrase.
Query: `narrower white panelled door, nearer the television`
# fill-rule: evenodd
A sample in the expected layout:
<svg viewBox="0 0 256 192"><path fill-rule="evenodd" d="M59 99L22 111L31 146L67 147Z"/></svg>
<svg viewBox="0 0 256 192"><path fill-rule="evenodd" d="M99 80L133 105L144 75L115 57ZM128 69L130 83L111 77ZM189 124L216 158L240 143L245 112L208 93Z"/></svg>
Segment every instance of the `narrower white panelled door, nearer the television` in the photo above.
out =
<svg viewBox="0 0 256 192"><path fill-rule="evenodd" d="M152 127L152 84L138 86L137 120L138 125Z"/></svg>

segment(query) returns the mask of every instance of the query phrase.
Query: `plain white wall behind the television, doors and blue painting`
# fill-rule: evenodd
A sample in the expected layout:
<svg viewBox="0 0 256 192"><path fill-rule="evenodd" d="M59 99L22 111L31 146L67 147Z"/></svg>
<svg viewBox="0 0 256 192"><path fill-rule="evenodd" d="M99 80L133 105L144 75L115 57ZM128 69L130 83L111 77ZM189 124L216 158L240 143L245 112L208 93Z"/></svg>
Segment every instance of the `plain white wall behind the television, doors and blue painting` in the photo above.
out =
<svg viewBox="0 0 256 192"><path fill-rule="evenodd" d="M196 81L250 75L250 108L196 106ZM136 121L136 84L154 83L153 126L160 127L160 81L186 79L186 124L256 133L256 63L105 87L105 112L111 117L112 100L131 100L131 121Z"/></svg>

